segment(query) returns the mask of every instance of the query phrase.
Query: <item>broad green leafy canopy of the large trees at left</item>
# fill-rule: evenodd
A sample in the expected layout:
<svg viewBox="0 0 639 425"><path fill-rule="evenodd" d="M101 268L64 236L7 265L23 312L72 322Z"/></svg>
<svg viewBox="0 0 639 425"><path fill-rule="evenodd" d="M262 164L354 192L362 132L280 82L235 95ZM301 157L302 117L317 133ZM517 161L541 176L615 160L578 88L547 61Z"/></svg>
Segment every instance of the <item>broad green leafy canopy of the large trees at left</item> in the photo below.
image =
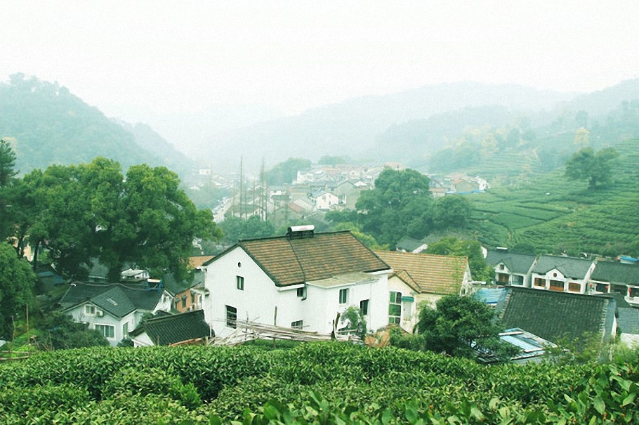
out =
<svg viewBox="0 0 639 425"><path fill-rule="evenodd" d="M178 185L165 167L131 166L125 178L119 164L105 158L34 170L22 179L19 200L31 216L15 215L16 235L29 235L35 251L46 245L70 277L86 277L97 257L112 280L124 263L183 278L192 241L216 239L220 231L211 211L198 211Z"/></svg>

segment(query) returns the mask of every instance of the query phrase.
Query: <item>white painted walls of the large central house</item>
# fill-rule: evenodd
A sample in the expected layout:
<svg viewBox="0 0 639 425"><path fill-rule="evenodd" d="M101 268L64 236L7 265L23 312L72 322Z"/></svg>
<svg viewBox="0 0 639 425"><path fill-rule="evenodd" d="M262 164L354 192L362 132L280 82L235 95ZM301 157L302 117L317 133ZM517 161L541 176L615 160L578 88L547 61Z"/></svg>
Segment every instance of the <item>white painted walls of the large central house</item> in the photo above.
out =
<svg viewBox="0 0 639 425"><path fill-rule="evenodd" d="M230 326L232 322L227 321L228 308L235 309L238 320L282 327L302 321L303 330L328 334L338 312L348 306L359 307L360 301L369 299L369 329L378 329L387 323L390 270L369 273L366 280L343 282L343 285L317 281L277 287L242 247L235 247L203 268L206 273L204 319L216 336L227 336L235 330ZM243 289L238 289L238 277L243 278ZM346 303L340 303L340 289L348 289Z"/></svg>

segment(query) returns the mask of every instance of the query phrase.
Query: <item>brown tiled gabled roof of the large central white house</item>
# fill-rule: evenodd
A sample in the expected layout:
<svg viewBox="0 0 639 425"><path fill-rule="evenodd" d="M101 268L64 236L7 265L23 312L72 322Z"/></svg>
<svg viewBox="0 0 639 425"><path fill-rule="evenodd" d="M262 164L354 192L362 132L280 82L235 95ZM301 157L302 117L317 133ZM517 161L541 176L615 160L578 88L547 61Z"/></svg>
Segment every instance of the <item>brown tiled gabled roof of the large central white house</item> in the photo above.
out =
<svg viewBox="0 0 639 425"><path fill-rule="evenodd" d="M371 273L389 269L386 263L348 230L315 233L303 238L280 236L241 240L205 265L237 247L244 249L279 287L347 273Z"/></svg>

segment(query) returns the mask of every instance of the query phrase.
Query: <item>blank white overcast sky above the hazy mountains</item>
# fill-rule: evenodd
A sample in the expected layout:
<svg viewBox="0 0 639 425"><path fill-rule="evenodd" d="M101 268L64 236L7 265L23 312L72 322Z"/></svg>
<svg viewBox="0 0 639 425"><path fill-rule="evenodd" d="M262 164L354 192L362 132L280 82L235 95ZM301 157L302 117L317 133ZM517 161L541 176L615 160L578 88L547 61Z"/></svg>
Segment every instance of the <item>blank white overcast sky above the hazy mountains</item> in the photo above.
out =
<svg viewBox="0 0 639 425"><path fill-rule="evenodd" d="M296 115L453 81L596 91L639 76L635 0L0 0L0 16L0 81L58 81L129 122L220 105Z"/></svg>

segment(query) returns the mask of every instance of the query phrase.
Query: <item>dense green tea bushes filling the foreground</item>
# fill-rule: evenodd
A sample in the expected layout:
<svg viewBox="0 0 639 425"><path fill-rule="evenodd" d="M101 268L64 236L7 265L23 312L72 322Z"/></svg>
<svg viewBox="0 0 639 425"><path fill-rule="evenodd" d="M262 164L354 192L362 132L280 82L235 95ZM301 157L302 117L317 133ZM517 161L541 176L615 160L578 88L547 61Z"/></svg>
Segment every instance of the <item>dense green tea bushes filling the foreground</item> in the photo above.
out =
<svg viewBox="0 0 639 425"><path fill-rule="evenodd" d="M341 343L82 348L0 365L0 423L636 424L637 358L485 366Z"/></svg>

